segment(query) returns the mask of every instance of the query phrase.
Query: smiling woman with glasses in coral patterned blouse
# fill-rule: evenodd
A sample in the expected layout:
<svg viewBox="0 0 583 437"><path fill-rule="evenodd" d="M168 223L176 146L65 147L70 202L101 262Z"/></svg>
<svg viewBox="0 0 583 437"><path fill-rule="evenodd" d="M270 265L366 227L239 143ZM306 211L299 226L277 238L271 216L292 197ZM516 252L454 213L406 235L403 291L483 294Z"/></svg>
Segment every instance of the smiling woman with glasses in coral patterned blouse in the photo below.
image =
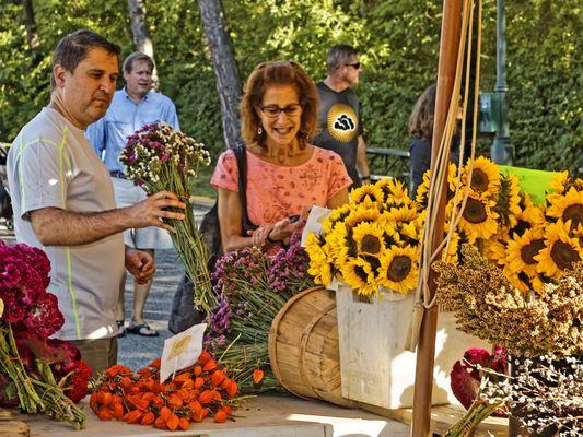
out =
<svg viewBox="0 0 583 437"><path fill-rule="evenodd" d="M296 62L264 62L254 70L241 102L247 157L247 213L257 226L243 232L238 169L233 151L220 157L211 178L219 191L219 222L225 252L247 246L285 244L303 226L295 221L312 205L348 202L342 160L310 144L317 127L317 91Z"/></svg>

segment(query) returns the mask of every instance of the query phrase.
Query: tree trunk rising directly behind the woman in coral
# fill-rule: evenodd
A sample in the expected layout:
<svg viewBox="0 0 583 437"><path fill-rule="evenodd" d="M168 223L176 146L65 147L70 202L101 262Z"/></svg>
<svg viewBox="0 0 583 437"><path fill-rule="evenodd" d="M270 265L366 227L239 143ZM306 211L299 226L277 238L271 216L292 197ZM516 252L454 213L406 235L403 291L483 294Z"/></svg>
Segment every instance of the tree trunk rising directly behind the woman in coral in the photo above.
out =
<svg viewBox="0 0 583 437"><path fill-rule="evenodd" d="M238 103L241 80L233 43L225 28L220 0L198 0L200 17L214 66L217 92L221 102L221 119L226 146L234 149L240 139Z"/></svg>

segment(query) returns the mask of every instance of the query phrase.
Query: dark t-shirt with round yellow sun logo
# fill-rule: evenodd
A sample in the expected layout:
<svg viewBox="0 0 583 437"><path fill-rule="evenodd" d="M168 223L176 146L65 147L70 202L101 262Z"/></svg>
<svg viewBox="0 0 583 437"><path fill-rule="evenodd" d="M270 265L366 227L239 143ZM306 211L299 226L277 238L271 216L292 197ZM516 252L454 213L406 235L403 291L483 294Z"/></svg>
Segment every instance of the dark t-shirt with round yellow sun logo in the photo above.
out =
<svg viewBox="0 0 583 437"><path fill-rule="evenodd" d="M357 152L362 120L357 93L351 88L337 93L324 82L319 82L316 87L319 96L319 132L312 142L339 154L354 181L353 186L360 186Z"/></svg>

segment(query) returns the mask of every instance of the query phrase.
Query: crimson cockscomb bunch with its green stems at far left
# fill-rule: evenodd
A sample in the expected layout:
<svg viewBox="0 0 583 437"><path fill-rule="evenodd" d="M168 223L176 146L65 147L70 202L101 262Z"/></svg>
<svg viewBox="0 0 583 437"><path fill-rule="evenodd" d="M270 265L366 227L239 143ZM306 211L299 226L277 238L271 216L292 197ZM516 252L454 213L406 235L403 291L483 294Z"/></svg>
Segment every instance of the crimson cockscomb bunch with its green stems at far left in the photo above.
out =
<svg viewBox="0 0 583 437"><path fill-rule="evenodd" d="M49 339L65 322L46 291L49 272L40 249L0 241L0 405L81 429L85 415L73 401L85 397L91 369L71 343Z"/></svg>

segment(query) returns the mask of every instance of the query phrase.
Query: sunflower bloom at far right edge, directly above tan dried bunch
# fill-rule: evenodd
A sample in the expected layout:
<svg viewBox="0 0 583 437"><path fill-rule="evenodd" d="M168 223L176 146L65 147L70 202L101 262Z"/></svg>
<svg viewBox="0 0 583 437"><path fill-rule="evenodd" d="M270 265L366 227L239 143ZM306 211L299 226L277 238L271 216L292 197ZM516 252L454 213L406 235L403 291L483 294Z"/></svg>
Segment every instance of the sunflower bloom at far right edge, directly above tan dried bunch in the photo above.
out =
<svg viewBox="0 0 583 437"><path fill-rule="evenodd" d="M581 261L583 249L579 238L569 236L571 222L549 224L545 229L545 248L534 257L538 261L537 272L559 279L573 263Z"/></svg>

